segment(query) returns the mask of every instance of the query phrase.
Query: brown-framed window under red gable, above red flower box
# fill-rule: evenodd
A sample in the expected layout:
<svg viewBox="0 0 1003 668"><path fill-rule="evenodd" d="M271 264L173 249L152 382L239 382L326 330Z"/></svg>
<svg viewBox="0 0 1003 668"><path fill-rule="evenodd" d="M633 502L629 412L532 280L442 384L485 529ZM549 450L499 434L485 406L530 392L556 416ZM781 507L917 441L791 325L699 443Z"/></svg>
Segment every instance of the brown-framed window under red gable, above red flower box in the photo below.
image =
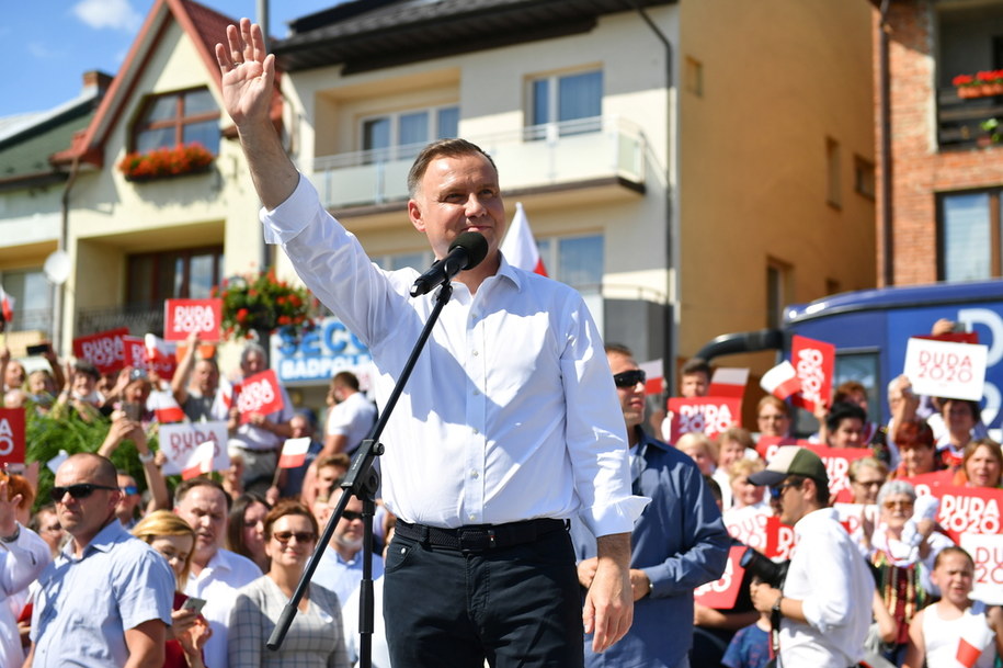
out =
<svg viewBox="0 0 1003 668"><path fill-rule="evenodd" d="M149 98L133 127L133 147L147 152L197 141L219 154L219 107L206 88Z"/></svg>

